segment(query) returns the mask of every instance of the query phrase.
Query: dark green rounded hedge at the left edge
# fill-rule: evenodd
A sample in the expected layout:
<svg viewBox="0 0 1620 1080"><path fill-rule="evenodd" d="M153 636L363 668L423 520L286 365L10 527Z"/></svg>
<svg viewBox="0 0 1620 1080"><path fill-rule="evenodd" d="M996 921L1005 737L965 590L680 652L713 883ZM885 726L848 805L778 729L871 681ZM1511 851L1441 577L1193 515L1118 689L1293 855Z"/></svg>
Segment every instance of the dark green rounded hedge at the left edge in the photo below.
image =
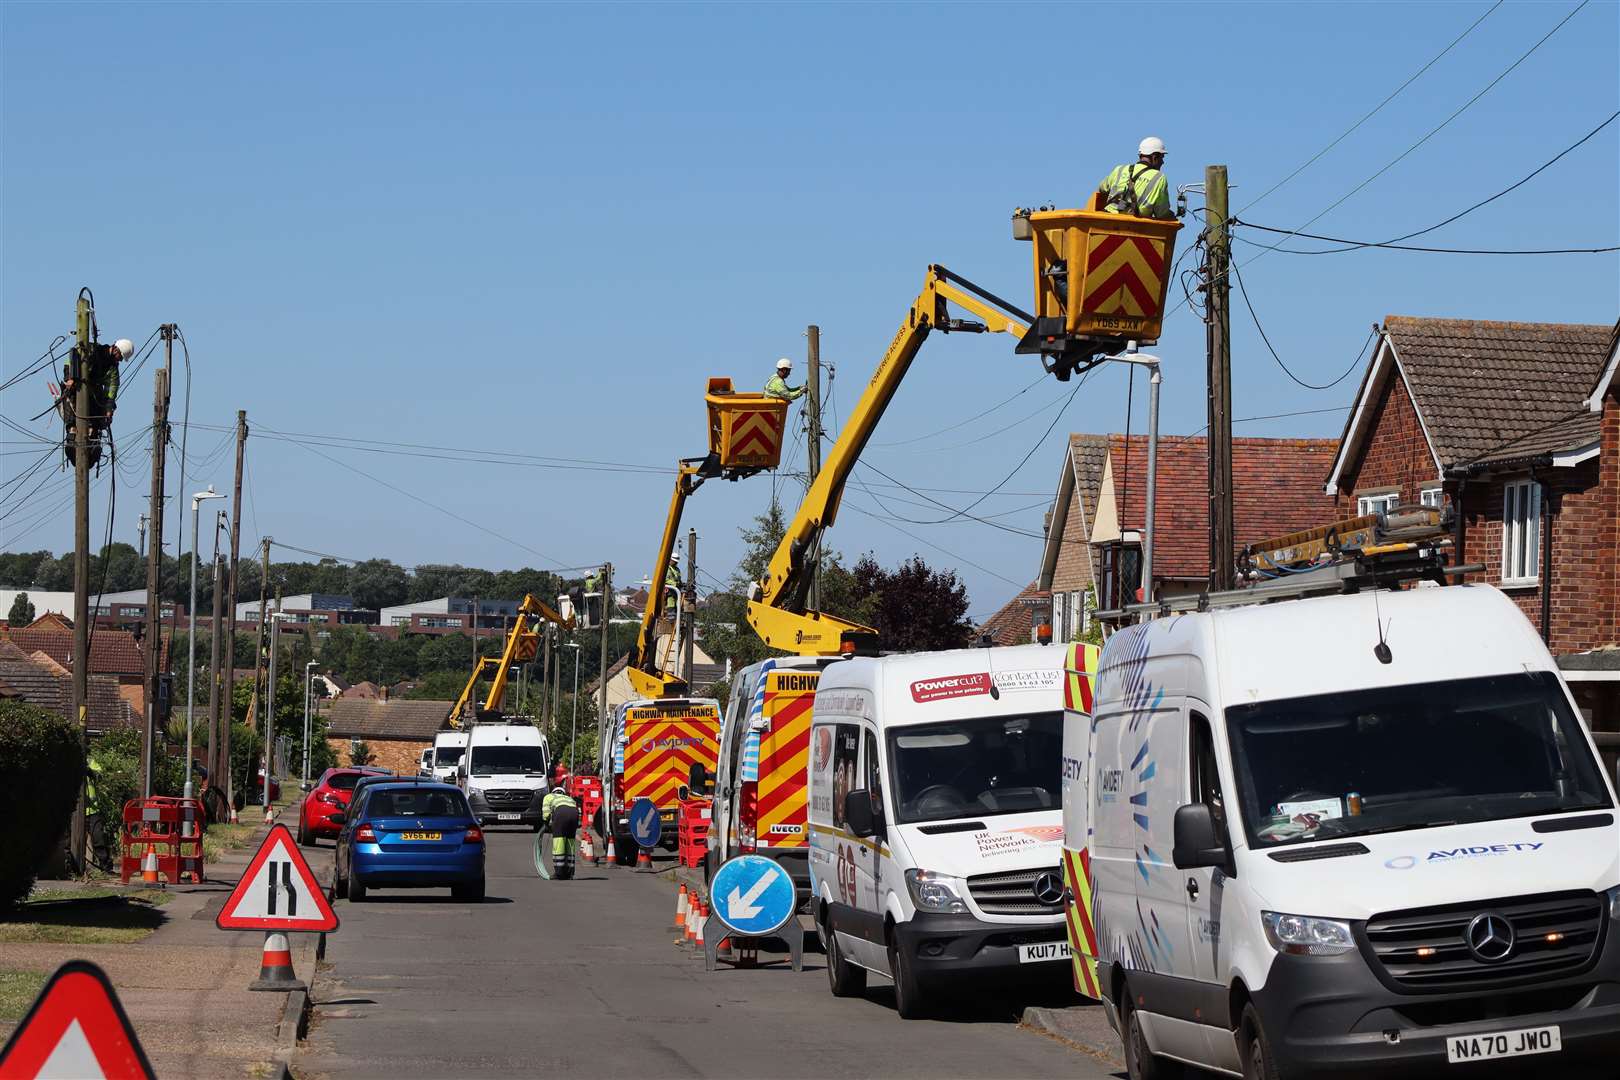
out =
<svg viewBox="0 0 1620 1080"><path fill-rule="evenodd" d="M0 698L0 910L34 887L34 871L73 818L84 777L78 725L13 698Z"/></svg>

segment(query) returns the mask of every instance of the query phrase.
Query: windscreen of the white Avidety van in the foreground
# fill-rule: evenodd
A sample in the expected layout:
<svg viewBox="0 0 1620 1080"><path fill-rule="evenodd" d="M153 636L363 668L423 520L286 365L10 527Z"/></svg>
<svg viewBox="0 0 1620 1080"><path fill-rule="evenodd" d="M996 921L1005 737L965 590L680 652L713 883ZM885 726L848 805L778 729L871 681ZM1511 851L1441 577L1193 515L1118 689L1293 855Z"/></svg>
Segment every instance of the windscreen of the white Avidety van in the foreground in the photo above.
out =
<svg viewBox="0 0 1620 1080"><path fill-rule="evenodd" d="M1550 672L1241 704L1226 727L1256 847L1609 806Z"/></svg>

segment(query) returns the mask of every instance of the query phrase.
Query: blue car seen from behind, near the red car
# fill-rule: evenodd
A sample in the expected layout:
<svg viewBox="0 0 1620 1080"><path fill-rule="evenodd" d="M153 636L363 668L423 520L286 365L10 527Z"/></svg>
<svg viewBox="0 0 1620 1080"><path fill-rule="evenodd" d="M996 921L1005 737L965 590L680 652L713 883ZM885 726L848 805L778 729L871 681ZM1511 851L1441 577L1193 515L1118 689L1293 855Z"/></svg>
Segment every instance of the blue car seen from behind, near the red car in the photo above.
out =
<svg viewBox="0 0 1620 1080"><path fill-rule="evenodd" d="M484 831L467 797L449 784L368 784L337 837L335 892L353 902L368 889L450 887L457 900L484 899Z"/></svg>

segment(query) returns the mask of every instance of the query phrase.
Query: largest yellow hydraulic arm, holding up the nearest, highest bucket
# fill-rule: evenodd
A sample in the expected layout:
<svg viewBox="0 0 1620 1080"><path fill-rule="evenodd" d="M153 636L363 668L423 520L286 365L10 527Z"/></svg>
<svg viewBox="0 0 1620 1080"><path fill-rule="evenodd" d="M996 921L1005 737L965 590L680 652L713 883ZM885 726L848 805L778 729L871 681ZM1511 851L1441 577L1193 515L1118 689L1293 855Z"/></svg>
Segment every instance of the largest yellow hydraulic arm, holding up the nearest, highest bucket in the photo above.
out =
<svg viewBox="0 0 1620 1080"><path fill-rule="evenodd" d="M977 316L978 321L951 317L948 303ZM789 521L765 578L755 585L753 596L748 597L748 623L768 646L800 656L834 656L844 641L875 641L876 631L870 627L807 609L821 534L838 520L844 484L928 334L933 330L1011 334L1021 338L1032 321L1034 316L943 266L928 267L922 291L906 313L906 321L889 342L865 393L855 403L855 411L850 413L820 474L805 492L799 512Z"/></svg>

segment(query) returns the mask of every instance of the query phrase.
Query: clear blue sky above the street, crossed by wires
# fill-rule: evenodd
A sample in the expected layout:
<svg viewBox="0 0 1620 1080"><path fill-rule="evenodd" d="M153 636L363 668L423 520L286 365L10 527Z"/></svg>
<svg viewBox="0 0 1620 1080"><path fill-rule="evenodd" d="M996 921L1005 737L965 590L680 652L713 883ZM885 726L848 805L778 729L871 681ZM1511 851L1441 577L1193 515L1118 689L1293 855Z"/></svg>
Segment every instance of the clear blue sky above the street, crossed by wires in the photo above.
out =
<svg viewBox="0 0 1620 1080"><path fill-rule="evenodd" d="M1502 5L1246 217L1301 225L1576 3ZM1160 134L1171 183L1221 162L1246 207L1489 6L13 2L0 8L3 369L16 374L68 330L76 290L91 285L104 338L141 342L165 321L185 332L191 419L214 426L191 432L193 491L228 489L222 429L238 408L256 432L667 466L703 450L708 376L758 385L781 355L802 374L802 332L816 322L847 413L927 264L1029 303L1014 206L1077 204L1137 139ZM1145 32L1132 39L1123 23ZM1620 107L1617 57L1617 6L1594 0L1314 228L1382 240L1507 186ZM1617 130L1426 241L1617 243ZM1285 359L1327 382L1390 313L1610 322L1617 267L1615 256L1359 251L1268 254L1244 277ZM1290 384L1241 308L1234 340L1238 416L1343 406L1354 390L1354 376L1320 393ZM1157 351L1165 432L1197 431L1202 325L1176 313ZM149 423L149 372L120 431ZM954 424L1035 374L1004 338L935 337L875 442ZM1119 372L1095 376L977 513L1038 533L1066 432L1119 431L1124 389ZM1047 381L956 431L875 445L870 460L914 486L985 491L1035 447L1059 397L1068 387ZM0 395L8 419L50 434L49 418L28 423L45 405L44 376ZM180 405L177 393L177 421ZM1341 413L1317 413L1239 432L1336 436L1340 424ZM37 455L13 431L0 439L13 479ZM130 542L144 450L144 436L123 445L115 531ZM272 534L407 565L611 559L620 580L640 578L669 489L656 473L258 437L248 453L245 547ZM716 483L692 500L706 568L729 573L737 526L771 484ZM107 483L97 491L99 534ZM68 492L58 476L15 507L8 491L0 513L18 512L0 521L0 544L65 551ZM906 492L873 492L893 513L941 517L894 499ZM975 615L1037 570L1037 539L970 521L902 526L928 547L852 505L883 513L850 487L834 547L956 567Z"/></svg>

